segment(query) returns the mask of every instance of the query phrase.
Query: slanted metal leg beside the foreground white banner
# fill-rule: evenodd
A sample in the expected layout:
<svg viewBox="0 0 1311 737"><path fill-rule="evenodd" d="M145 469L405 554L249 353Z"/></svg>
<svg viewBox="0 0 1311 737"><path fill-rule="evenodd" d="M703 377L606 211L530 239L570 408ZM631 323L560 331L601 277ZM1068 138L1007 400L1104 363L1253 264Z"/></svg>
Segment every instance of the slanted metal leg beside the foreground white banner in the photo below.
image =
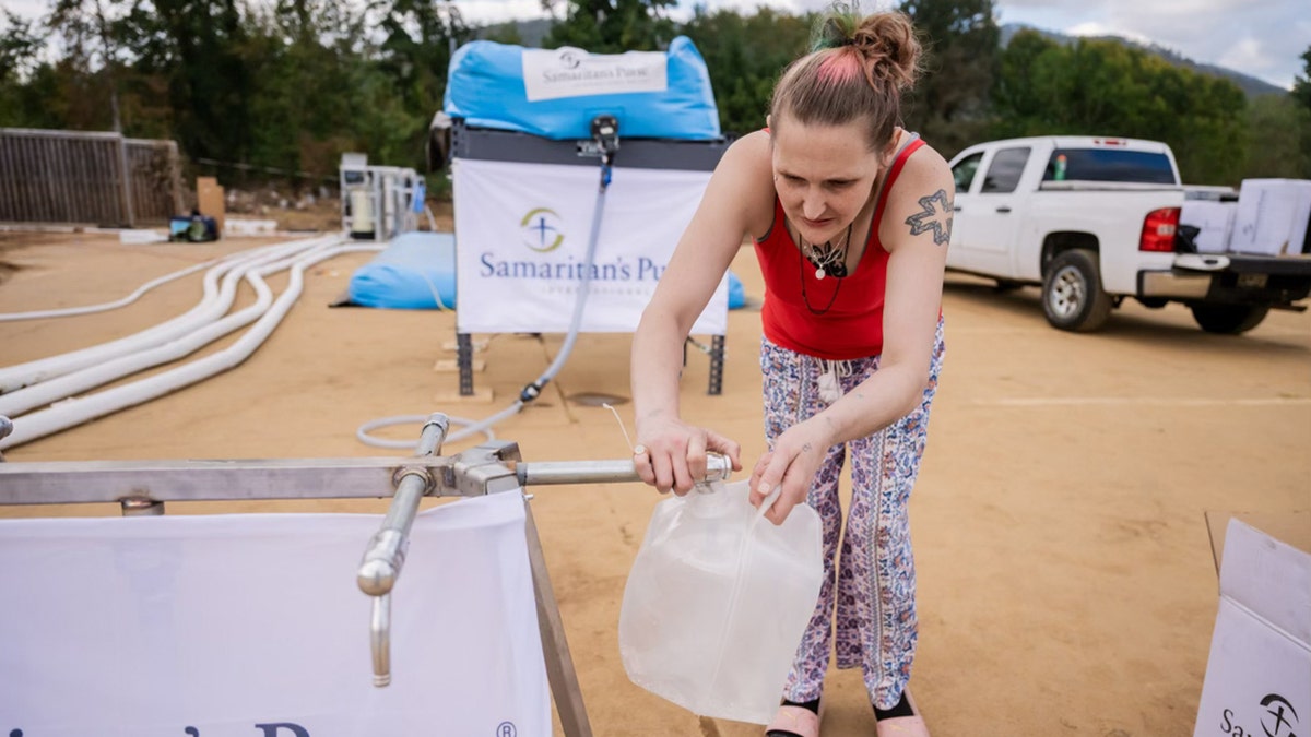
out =
<svg viewBox="0 0 1311 737"><path fill-rule="evenodd" d="M524 501L526 535L528 538L528 563L532 567L532 588L538 599L538 629L541 632L541 650L547 661L547 679L551 694L560 713L560 725L565 737L591 737L587 724L587 708L582 703L582 688L578 686L578 673L574 671L569 643L565 640L564 623L560 619L560 606L551 588L551 574L547 559L541 552L541 539L538 536L538 523L532 521L532 505Z"/></svg>

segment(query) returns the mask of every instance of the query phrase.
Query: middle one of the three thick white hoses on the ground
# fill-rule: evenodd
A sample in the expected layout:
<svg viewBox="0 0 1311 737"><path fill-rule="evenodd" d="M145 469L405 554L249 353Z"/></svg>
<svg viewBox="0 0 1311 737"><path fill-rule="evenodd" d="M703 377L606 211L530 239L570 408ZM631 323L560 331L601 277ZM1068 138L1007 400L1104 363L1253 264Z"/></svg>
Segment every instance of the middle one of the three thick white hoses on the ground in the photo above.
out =
<svg viewBox="0 0 1311 737"><path fill-rule="evenodd" d="M323 248L323 247L316 247ZM308 253L308 252L307 252ZM254 304L228 315L227 317L210 323L178 340L147 348L105 363L64 374L39 384L24 387L18 391L0 395L0 416L17 417L30 409L50 404L55 400L73 396L89 388L108 384L130 374L135 374L152 366L160 366L184 355L189 355L202 346L253 323L269 308L273 302L273 291L262 279L264 275L282 271L291 266L299 254L282 258L267 265L254 262L244 264L239 269L229 271L229 275L245 278L256 290Z"/></svg>

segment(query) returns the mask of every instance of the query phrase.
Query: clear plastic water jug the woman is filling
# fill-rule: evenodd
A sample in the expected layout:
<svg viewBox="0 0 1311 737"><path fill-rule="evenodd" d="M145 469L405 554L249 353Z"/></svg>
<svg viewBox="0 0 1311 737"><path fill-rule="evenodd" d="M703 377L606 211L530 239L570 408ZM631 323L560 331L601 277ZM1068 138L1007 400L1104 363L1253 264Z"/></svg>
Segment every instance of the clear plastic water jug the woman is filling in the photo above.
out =
<svg viewBox="0 0 1311 737"><path fill-rule="evenodd" d="M746 481L659 502L619 614L628 678L700 716L768 723L819 597L821 535L806 505L763 519Z"/></svg>

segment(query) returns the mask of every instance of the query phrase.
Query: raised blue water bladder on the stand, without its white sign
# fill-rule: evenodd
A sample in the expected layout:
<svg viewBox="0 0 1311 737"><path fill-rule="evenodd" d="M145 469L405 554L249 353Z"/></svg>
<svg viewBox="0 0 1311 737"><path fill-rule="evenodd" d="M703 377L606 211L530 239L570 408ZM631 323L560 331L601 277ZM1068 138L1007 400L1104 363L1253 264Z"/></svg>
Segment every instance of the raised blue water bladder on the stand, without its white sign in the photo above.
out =
<svg viewBox="0 0 1311 737"><path fill-rule="evenodd" d="M492 41L460 46L451 58L443 111L468 126L557 140L591 138L591 121L600 114L619 119L620 138L714 140L722 135L705 60L684 35L671 41L665 52L669 87L661 92L530 101L523 54L522 46Z"/></svg>

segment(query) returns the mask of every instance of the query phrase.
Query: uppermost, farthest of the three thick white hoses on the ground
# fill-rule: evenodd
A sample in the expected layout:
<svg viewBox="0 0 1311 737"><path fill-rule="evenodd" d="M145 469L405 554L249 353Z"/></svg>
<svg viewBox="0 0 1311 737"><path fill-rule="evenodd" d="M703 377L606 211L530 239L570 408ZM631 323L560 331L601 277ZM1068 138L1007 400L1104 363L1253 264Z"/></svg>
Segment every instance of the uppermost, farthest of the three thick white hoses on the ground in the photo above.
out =
<svg viewBox="0 0 1311 737"><path fill-rule="evenodd" d="M10 392L30 384L35 384L55 376L97 366L105 361L127 355L138 350L168 342L180 336L195 330L198 325L212 323L225 315L236 298L236 285L240 278L232 277L232 270L249 262L265 262L290 253L303 252L325 243L334 243L340 236L295 241L273 247L256 248L235 254L210 269L205 275L205 296L201 303L186 313L140 330L135 334L115 341L104 342L92 348L30 361L17 366L0 368L0 393ZM222 287L216 286L220 275L224 275Z"/></svg>

